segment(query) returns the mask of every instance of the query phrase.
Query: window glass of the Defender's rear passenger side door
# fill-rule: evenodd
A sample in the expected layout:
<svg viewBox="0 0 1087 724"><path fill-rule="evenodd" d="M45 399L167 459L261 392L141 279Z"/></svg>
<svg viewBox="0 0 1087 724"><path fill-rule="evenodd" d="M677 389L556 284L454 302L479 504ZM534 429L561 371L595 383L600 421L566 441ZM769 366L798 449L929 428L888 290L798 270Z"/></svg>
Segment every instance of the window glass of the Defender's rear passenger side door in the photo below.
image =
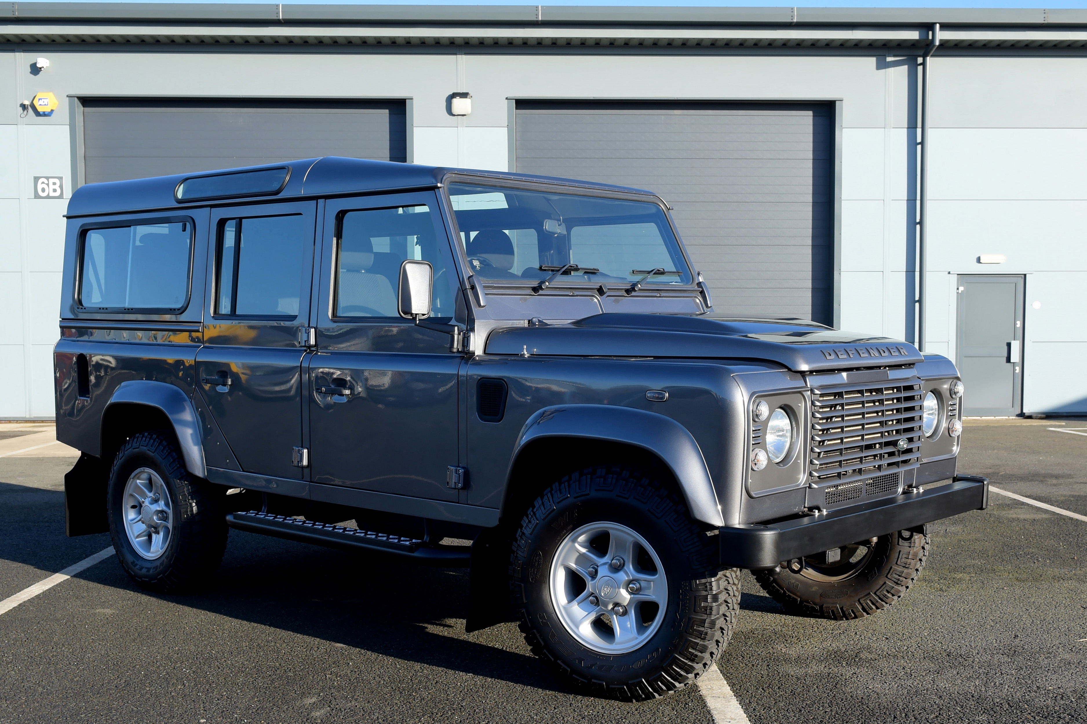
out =
<svg viewBox="0 0 1087 724"><path fill-rule="evenodd" d="M297 317L307 238L300 214L222 221L215 314Z"/></svg>

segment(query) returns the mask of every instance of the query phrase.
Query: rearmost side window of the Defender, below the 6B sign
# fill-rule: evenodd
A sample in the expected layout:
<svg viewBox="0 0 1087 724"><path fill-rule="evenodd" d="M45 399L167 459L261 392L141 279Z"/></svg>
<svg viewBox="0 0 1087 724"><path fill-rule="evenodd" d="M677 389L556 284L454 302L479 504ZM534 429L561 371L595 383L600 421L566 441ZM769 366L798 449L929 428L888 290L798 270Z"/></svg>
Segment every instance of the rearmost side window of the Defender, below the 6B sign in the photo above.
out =
<svg viewBox="0 0 1087 724"><path fill-rule="evenodd" d="M179 310L188 303L192 224L88 229L79 304L100 309Z"/></svg>

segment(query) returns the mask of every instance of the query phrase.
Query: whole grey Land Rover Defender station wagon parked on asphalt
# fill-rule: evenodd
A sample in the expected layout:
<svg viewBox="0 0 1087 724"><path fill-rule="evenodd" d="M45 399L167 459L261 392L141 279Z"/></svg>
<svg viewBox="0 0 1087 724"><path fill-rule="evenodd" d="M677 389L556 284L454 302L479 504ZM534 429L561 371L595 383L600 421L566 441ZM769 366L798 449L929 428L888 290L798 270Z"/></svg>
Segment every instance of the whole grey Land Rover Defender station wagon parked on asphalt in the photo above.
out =
<svg viewBox="0 0 1087 724"><path fill-rule="evenodd" d="M95 183L64 259L67 534L154 590L230 528L468 567L470 631L513 615L638 700L713 665L739 569L865 617L988 501L948 359L711 316L647 191L339 157Z"/></svg>

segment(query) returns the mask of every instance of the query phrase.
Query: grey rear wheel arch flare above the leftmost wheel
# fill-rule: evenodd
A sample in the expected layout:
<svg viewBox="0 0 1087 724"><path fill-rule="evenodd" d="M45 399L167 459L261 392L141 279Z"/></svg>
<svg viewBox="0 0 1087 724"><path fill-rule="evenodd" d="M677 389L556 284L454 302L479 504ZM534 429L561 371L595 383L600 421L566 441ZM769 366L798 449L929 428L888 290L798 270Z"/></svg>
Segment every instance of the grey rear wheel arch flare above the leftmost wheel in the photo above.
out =
<svg viewBox="0 0 1087 724"><path fill-rule="evenodd" d="M111 460L132 435L155 429L173 432L186 470L208 477L196 408L180 388L167 382L128 380L117 385L102 412L102 459Z"/></svg>

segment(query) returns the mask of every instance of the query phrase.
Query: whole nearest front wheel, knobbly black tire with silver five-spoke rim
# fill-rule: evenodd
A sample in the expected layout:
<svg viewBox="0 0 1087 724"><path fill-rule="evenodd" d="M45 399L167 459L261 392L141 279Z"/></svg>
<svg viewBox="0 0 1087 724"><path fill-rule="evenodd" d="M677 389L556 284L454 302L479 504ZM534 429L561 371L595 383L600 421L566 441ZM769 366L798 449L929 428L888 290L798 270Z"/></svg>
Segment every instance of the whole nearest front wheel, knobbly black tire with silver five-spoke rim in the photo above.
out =
<svg viewBox="0 0 1087 724"><path fill-rule="evenodd" d="M585 693L645 700L692 683L727 645L738 571L666 483L595 467L536 499L514 544L511 585L533 652Z"/></svg>

